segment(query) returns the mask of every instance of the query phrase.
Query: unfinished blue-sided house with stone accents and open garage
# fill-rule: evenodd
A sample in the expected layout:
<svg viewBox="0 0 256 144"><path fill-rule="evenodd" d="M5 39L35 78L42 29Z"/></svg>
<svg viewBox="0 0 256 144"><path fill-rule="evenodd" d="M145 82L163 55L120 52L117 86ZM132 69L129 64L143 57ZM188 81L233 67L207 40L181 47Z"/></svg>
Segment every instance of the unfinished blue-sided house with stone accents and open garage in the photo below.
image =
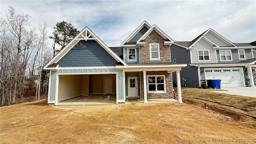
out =
<svg viewBox="0 0 256 144"><path fill-rule="evenodd" d="M120 47L108 47L88 27L65 46L44 69L50 70L48 103L81 95L116 94L116 104L128 97L173 98L172 72L177 73L182 102L180 70L171 63L174 41L156 25L142 22Z"/></svg>

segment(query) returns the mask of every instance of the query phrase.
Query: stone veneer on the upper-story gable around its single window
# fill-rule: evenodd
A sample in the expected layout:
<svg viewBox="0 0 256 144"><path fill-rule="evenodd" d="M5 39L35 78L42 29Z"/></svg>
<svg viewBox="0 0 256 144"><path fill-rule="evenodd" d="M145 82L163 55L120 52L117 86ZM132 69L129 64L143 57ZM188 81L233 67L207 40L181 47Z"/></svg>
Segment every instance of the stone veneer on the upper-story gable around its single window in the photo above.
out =
<svg viewBox="0 0 256 144"><path fill-rule="evenodd" d="M164 45L164 38L153 30L146 38L146 44L140 46L140 63L159 63L171 62L170 60L170 46ZM160 60L150 60L150 47L149 44L159 43Z"/></svg>

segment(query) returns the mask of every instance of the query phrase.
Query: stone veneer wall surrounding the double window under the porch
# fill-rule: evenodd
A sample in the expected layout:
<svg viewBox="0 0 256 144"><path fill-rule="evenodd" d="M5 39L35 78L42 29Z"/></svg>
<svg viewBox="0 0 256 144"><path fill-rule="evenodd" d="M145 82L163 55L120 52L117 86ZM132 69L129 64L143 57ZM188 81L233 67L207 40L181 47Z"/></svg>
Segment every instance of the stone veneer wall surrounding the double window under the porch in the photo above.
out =
<svg viewBox="0 0 256 144"><path fill-rule="evenodd" d="M157 99L157 98L173 98L172 92L172 74L167 71L157 71L157 72L146 72L146 75L165 75L165 88L166 93L155 93L148 94L148 99ZM148 83L148 80L147 80ZM140 95L144 98L144 83L143 83L143 72L140 72Z"/></svg>

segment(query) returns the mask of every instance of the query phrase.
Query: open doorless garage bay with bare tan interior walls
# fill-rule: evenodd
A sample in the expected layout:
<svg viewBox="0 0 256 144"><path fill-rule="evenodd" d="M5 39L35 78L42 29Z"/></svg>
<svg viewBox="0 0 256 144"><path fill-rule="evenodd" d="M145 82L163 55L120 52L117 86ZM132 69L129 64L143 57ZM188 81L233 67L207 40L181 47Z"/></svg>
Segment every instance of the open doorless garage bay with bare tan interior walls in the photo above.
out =
<svg viewBox="0 0 256 144"><path fill-rule="evenodd" d="M59 75L58 105L116 104L116 74Z"/></svg>

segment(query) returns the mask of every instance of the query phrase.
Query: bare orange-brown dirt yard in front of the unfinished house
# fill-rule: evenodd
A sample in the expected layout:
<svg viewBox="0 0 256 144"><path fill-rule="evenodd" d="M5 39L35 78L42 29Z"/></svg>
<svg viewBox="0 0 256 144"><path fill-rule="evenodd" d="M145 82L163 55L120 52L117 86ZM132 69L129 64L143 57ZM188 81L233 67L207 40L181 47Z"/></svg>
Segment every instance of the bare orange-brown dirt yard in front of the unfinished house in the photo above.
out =
<svg viewBox="0 0 256 144"><path fill-rule="evenodd" d="M182 93L192 95L189 90ZM208 94L207 90L202 93ZM0 143L256 143L254 118L215 104L193 98L184 98L184 104L50 106L46 99L24 102L0 108Z"/></svg>

